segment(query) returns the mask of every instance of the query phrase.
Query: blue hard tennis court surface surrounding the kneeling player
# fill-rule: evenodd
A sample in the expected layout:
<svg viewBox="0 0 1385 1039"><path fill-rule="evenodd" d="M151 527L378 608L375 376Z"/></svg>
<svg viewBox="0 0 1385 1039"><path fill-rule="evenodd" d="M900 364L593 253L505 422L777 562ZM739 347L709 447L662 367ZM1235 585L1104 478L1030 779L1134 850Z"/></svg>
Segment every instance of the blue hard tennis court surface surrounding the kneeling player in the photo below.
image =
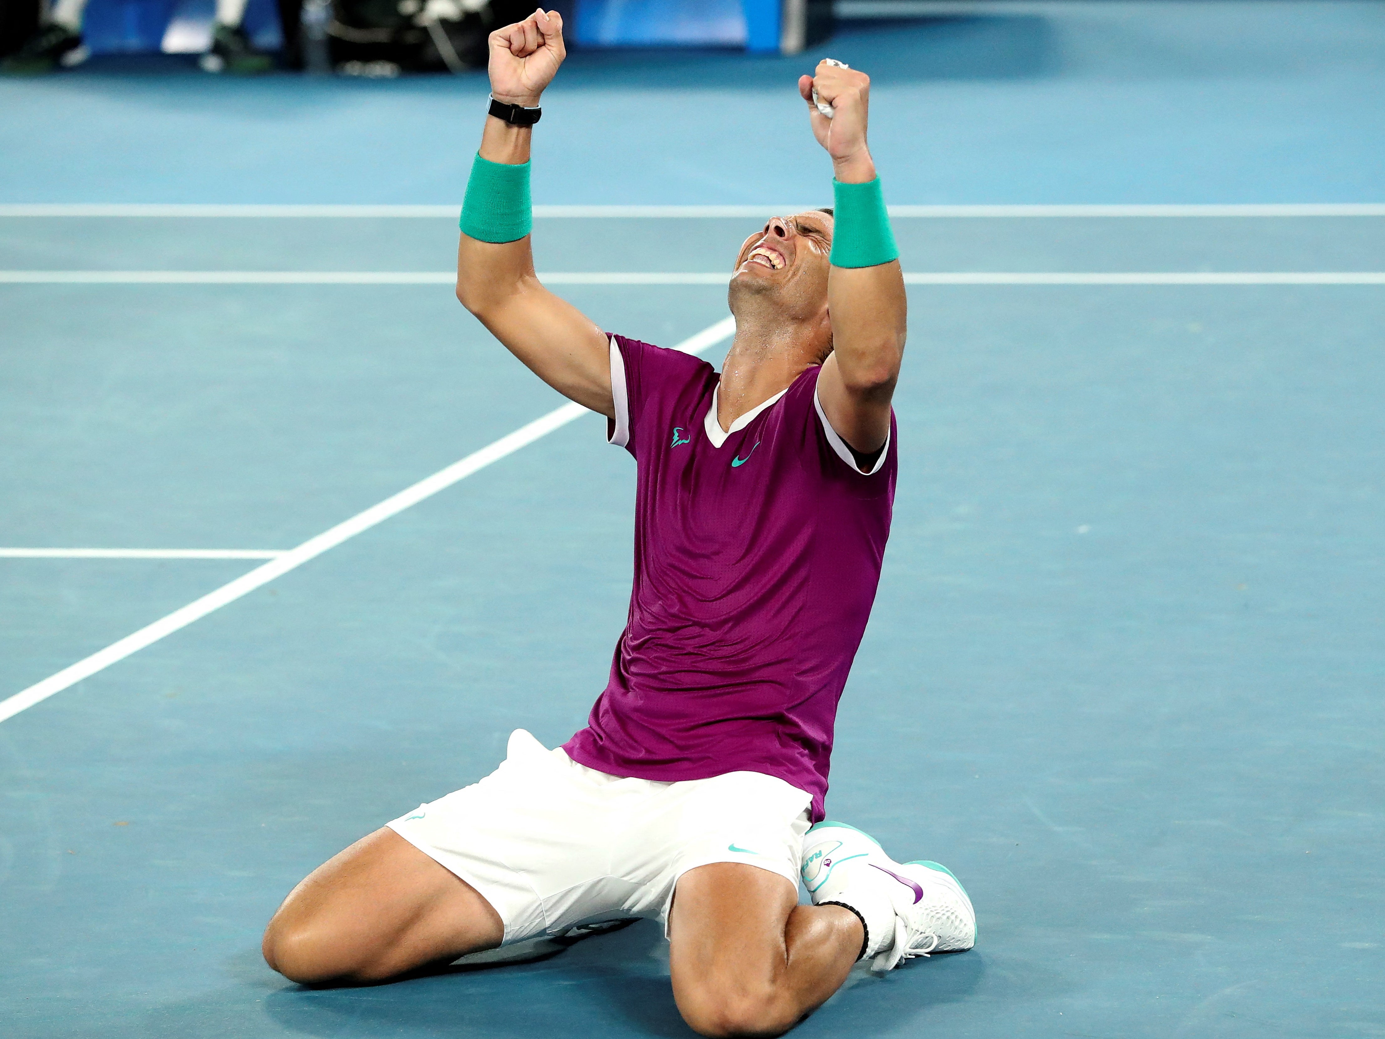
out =
<svg viewBox="0 0 1385 1039"><path fill-rule="evenodd" d="M1050 42L1096 47L1098 25L1111 53L1141 33L1169 50L1104 79L1019 48L943 80L911 71L942 61L931 24L848 28L843 47L889 36L882 108L928 94L942 125L972 127L949 151L957 165L979 163L968 141L988 133L997 155L1037 163L1033 180L1018 161L953 179L929 136L907 130L922 115L896 109L873 122L891 201L1385 202L1378 4L1097 8L1014 17ZM1233 10L1240 43L1194 32ZM963 28L932 26L954 54ZM637 115L612 132L626 139L654 133L651 98L741 97L723 82L729 55L677 57L715 75L676 89L638 86L654 73L630 72L637 55L616 62L618 89L583 61L565 97L593 134L626 96ZM724 104L715 126L643 137L651 158L633 168L564 166L569 144L596 154L601 140L546 116L537 201L825 199L816 159L783 190L766 173L735 194L753 151L735 130L759 126L785 150L806 140L792 97L783 119L765 100L763 69L781 61L742 66L758 69L747 107ZM864 53L860 65L874 71ZM285 155L321 145L295 127L328 133L312 129L302 89L325 98L323 119L360 122L342 130L342 169L292 180ZM1242 89L1238 112L1215 103ZM1129 147L1109 125L1021 129L1026 107L1076 119L1144 90L1210 100L1166 121L1134 109ZM449 202L481 93L100 68L0 82L0 98L24 101L0 100L0 137L22 137L32 158L0 169L0 549L292 550L561 406L445 280L169 276L445 278L446 215L14 209ZM1294 122L1307 96L1343 107ZM83 157L43 116L87 101L82 119L115 112L138 132ZM278 103L296 115L276 130L266 107ZM446 108L447 126L411 125L418 105ZM361 158L391 112L402 144ZM184 176L179 163L216 154L223 116L260 151L238 173L209 162ZM1223 137L1219 119L1251 129ZM141 151L150 126L191 127L188 154L161 152L166 179ZM1198 137L1217 157L1205 191L1184 152L1150 165L1161 143ZM838 719L828 813L896 855L945 862L979 938L855 975L795 1035L1385 1035L1385 209L1073 212L896 220L906 272L1006 277L910 288L893 533ZM724 287L633 276L724 272L759 223L544 217L537 266L609 274L561 291L605 328L673 345L726 317ZM46 276L6 281L14 272ZM148 277L64 283L72 272ZM1035 273L1187 277L1011 277ZM1246 277L1195 284L1224 273ZM259 956L270 913L325 858L489 772L511 729L553 745L583 725L630 582L634 471L602 432L594 416L562 425L0 723L6 1036L690 1035L648 921L540 963L364 989L299 988ZM262 562L0 558L0 700Z"/></svg>

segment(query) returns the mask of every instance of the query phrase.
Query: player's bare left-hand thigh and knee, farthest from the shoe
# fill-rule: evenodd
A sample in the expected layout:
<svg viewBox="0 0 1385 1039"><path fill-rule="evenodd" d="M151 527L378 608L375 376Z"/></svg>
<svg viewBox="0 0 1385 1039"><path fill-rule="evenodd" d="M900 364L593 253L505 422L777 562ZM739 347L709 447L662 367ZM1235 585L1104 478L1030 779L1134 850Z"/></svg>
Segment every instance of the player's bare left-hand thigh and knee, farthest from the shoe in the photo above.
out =
<svg viewBox="0 0 1385 1039"><path fill-rule="evenodd" d="M368 985L493 949L504 936L475 888L393 830L328 859L265 930L265 961L303 985Z"/></svg>

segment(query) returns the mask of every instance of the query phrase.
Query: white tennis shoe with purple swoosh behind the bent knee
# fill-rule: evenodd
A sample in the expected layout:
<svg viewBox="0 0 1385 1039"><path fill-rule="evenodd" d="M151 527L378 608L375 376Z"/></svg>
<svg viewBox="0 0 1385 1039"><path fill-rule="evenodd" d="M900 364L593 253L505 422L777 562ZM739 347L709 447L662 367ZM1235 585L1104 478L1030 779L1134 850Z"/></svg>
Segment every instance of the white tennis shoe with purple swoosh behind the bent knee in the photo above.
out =
<svg viewBox="0 0 1385 1039"><path fill-rule="evenodd" d="M976 912L947 867L895 862L875 838L846 823L821 822L807 831L802 877L813 905L845 903L860 914L871 970L976 943Z"/></svg>

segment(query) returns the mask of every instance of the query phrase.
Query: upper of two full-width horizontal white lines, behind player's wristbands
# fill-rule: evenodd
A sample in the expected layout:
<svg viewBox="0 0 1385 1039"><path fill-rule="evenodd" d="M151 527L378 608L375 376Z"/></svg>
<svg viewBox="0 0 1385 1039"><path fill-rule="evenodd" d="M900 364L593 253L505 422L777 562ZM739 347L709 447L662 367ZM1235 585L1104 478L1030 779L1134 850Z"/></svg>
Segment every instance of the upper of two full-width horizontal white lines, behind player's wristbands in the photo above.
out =
<svg viewBox="0 0 1385 1039"><path fill-rule="evenodd" d="M824 205L536 205L533 215L551 217L680 217L724 219L799 213ZM105 217L331 217L331 219L452 219L454 205L252 205L252 204L144 204L144 202L30 202L0 205L0 217L105 216ZM1231 205L892 205L891 216L986 219L986 217L1222 217L1222 216L1385 216L1385 202L1287 202Z"/></svg>

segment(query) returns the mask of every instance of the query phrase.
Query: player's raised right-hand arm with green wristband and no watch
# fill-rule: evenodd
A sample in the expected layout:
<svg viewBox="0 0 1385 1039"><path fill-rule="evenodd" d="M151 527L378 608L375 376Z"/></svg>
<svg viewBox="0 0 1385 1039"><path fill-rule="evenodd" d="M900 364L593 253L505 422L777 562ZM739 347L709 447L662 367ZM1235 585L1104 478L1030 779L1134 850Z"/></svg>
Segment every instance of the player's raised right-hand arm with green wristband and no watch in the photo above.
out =
<svg viewBox="0 0 1385 1039"><path fill-rule="evenodd" d="M823 115L817 96L835 109ZM832 266L827 309L832 353L817 380L817 398L837 434L863 454L879 450L889 435L889 402L904 356L904 277L884 215L875 163L866 144L870 78L856 69L820 64L803 76L813 134L832 158L837 193Z"/></svg>

